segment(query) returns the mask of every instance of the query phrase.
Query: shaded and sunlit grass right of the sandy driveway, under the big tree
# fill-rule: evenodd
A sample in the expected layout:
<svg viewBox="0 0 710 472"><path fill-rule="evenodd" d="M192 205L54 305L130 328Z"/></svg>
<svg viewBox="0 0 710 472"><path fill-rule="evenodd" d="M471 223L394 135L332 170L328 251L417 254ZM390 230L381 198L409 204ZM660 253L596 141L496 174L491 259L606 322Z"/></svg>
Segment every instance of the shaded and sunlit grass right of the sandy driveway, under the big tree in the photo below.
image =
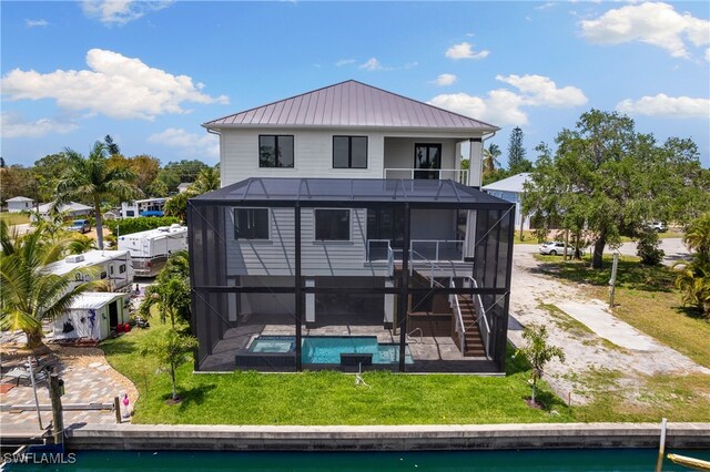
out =
<svg viewBox="0 0 710 472"><path fill-rule="evenodd" d="M605 256L602 269L590 268L588 259L562 261L559 257L539 255L536 258L544 263L541 271L562 281L587 284L586 295L608 301L611 256ZM623 256L617 271L613 315L710 368L710 320L682 306L670 267L649 267L637 257Z"/></svg>

